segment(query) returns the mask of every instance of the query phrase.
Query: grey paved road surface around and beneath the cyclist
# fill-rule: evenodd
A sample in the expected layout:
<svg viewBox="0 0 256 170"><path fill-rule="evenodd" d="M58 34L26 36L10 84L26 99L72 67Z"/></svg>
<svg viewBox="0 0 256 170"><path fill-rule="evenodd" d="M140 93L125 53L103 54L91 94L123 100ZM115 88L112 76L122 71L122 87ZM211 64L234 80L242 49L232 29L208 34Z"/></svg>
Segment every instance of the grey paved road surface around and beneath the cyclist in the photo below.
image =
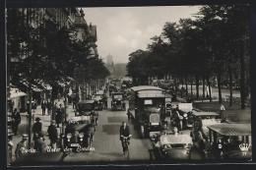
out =
<svg viewBox="0 0 256 170"><path fill-rule="evenodd" d="M110 99L108 99L110 106ZM128 106L128 101L126 101ZM98 124L96 127L95 140L93 142L94 151L90 152L71 152L64 158L64 163L92 163L92 162L128 162L128 157L123 155L121 142L119 141L119 128L121 122L126 121L132 134L130 144L130 161L145 161L155 159L154 154L150 151L153 148L149 139L142 139L140 132L134 130L131 122L127 120L126 111L99 111ZM169 122L169 117L166 118ZM168 129L172 129L168 126ZM189 134L190 131L184 131L183 134ZM192 151L192 159L201 159L201 156Z"/></svg>

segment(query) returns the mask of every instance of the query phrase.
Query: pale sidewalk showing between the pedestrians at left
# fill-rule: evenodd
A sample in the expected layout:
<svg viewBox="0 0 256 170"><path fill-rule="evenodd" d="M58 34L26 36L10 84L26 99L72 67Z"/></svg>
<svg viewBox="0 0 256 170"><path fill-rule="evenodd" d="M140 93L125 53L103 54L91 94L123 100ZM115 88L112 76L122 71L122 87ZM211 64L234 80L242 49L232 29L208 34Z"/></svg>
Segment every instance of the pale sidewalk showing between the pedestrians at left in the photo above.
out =
<svg viewBox="0 0 256 170"><path fill-rule="evenodd" d="M57 102L58 104L62 103L63 104L63 98L60 99L60 101L58 101L57 99L54 101ZM67 120L68 120L68 116L72 116L72 112L74 112L74 110L72 109L72 105L67 105ZM28 134L29 135L29 119L27 118L27 114L28 112L22 112L21 113L21 124L18 127L18 132L17 132L17 136L13 136L13 140L12 142L14 143L13 145L13 151L12 151L12 157L13 157L13 161L15 160L15 150L17 147L18 142L22 141L22 136L23 134ZM40 122L42 123L42 131L45 133L44 139L45 139L45 144L49 145L50 144L50 140L48 138L48 133L47 133L47 129L48 126L50 125L50 120L51 120L51 116L47 115L47 109L45 109L45 114L46 116L42 116L42 110L40 105L37 105L36 109L34 110L34 112L32 111L32 125L35 123L34 119L36 117L40 118ZM57 128L58 133L60 132L61 129L61 125L60 128ZM33 136L33 134L32 134ZM33 141L32 141L33 142Z"/></svg>

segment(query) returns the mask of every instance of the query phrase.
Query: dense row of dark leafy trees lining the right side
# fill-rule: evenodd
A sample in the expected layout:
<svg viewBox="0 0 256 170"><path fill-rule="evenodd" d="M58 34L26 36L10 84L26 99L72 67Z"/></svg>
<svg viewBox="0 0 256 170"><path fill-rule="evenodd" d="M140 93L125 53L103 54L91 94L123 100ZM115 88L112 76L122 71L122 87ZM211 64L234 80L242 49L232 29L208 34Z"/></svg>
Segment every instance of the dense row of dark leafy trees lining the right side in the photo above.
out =
<svg viewBox="0 0 256 170"><path fill-rule="evenodd" d="M152 38L147 50L130 54L128 76L139 85L147 85L149 79L171 75L176 83L212 85L217 78L219 101L222 103L222 84L228 78L230 103L234 78L239 79L241 108L250 89L249 82L249 6L202 6L196 20L180 19L177 23L165 23L160 35ZM237 76L238 75L238 76ZM210 99L211 93L210 93Z"/></svg>

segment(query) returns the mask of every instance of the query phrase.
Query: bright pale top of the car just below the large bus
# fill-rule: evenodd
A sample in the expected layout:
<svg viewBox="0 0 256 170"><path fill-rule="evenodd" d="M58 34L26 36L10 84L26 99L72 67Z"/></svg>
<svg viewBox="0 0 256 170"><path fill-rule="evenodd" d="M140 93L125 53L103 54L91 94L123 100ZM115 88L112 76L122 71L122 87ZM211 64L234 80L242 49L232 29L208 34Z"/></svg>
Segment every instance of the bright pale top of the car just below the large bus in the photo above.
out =
<svg viewBox="0 0 256 170"><path fill-rule="evenodd" d="M178 134L178 135L161 135L160 136L161 144L181 144L181 143L192 143L192 139L189 135Z"/></svg>

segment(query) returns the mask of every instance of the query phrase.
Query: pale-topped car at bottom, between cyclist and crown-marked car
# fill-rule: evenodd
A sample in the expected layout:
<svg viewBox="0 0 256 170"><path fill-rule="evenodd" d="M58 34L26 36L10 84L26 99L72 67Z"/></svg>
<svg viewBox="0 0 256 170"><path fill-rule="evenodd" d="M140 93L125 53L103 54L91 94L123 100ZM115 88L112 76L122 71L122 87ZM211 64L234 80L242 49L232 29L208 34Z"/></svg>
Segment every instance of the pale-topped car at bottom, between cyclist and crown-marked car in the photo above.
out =
<svg viewBox="0 0 256 170"><path fill-rule="evenodd" d="M190 159L191 137L181 134L156 135L152 139L154 152L160 160Z"/></svg>

